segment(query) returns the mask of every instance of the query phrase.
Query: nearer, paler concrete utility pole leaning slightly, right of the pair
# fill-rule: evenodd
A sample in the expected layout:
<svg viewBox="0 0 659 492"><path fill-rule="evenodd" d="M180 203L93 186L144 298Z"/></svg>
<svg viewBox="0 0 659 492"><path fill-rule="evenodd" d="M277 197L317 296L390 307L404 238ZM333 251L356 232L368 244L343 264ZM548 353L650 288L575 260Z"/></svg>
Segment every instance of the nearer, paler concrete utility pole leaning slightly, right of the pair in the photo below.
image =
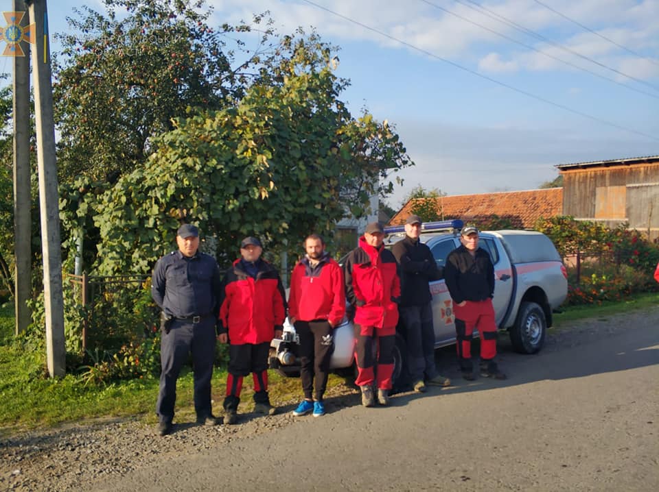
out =
<svg viewBox="0 0 659 492"><path fill-rule="evenodd" d="M46 349L51 378L64 376L64 300L62 297L62 252L60 212L55 160L55 124L50 72L50 46L46 0L29 0L30 19L36 23L36 44L32 50L36 158L39 171L41 247L43 251L43 295L46 315Z"/></svg>

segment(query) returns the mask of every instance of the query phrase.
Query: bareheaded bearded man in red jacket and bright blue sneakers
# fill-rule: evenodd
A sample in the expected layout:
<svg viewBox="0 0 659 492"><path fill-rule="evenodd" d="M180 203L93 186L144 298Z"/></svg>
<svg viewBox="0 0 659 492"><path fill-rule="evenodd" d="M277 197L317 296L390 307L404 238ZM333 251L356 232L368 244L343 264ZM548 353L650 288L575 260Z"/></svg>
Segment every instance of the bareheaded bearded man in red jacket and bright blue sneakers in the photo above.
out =
<svg viewBox="0 0 659 492"><path fill-rule="evenodd" d="M288 295L288 318L300 337L300 377L304 392L304 399L293 415L298 417L313 410L314 417L321 417L325 415L323 395L332 358L332 330L345 315L345 287L343 271L325 252L321 236L308 236L304 249L306 255L295 265L290 277Z"/></svg>

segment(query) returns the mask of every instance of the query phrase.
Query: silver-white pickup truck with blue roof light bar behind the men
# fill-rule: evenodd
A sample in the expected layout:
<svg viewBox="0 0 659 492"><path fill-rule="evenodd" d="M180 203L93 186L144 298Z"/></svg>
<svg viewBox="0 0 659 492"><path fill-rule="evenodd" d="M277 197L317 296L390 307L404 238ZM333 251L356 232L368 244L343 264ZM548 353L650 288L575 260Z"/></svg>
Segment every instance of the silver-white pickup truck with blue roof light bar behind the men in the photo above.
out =
<svg viewBox="0 0 659 492"><path fill-rule="evenodd" d="M435 257L440 272L448 254L459 247L462 221L424 223L420 240ZM404 227L385 227L385 245L391 247L404 238ZM552 325L552 313L568 293L567 271L551 240L540 232L500 230L481 232L478 245L485 249L494 264L496 285L494 310L500 330L508 330L513 347L522 354L534 354L542 348L546 329ZM430 282L432 317L435 324L435 348L455 343L453 304L444 280ZM474 331L474 336L478 333ZM332 369L354 364L354 334L347 319L334 330ZM400 375L405 341L396 336L394 377ZM297 334L288 320L282 339L270 345L270 367L288 376L299 372Z"/></svg>

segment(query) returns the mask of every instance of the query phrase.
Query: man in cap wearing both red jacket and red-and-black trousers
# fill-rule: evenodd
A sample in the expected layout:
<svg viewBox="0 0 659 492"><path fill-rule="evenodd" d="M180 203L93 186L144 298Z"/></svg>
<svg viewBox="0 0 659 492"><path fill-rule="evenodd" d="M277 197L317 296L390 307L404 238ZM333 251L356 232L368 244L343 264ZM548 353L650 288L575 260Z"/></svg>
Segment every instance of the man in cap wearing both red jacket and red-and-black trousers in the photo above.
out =
<svg viewBox="0 0 659 492"><path fill-rule="evenodd" d="M362 405L373 406L373 382L378 403L389 404L393 374L393 348L400 301L400 280L396 258L382 245L384 230L378 222L369 223L345 261L345 295L354 312L355 358L358 376L355 384L362 391ZM373 371L373 340L378 343L377 379Z"/></svg>

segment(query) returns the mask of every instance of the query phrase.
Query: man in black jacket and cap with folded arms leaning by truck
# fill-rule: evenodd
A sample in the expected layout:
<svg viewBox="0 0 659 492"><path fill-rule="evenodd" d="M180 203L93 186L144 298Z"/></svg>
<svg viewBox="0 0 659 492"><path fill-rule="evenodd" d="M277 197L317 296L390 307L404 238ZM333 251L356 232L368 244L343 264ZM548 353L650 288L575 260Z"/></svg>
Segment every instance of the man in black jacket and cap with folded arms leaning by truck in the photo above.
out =
<svg viewBox="0 0 659 492"><path fill-rule="evenodd" d="M426 384L449 386L435 367L435 327L432 324L432 294L428 282L439 280L439 271L430 248L419 241L421 218L411 215L405 221L405 238L391 248L400 275L400 319L407 343L407 365L412 387L417 393Z"/></svg>

